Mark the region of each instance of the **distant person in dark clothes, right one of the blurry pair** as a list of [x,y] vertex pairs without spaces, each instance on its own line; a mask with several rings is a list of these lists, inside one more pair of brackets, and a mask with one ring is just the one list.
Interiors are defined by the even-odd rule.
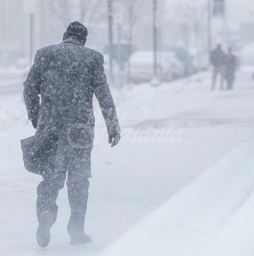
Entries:
[[235,79],[235,71],[237,66],[237,58],[233,55],[233,49],[228,48],[228,55],[225,62],[225,78],[227,81],[227,89],[233,89],[233,83]]

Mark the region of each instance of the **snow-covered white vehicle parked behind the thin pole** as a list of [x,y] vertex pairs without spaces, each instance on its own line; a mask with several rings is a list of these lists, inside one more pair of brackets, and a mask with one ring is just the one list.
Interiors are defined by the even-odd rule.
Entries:
[[[158,52],[157,74],[160,80],[170,81],[183,76],[184,68],[173,52]],[[147,82],[154,77],[154,54],[135,52],[130,58],[130,80]]]

